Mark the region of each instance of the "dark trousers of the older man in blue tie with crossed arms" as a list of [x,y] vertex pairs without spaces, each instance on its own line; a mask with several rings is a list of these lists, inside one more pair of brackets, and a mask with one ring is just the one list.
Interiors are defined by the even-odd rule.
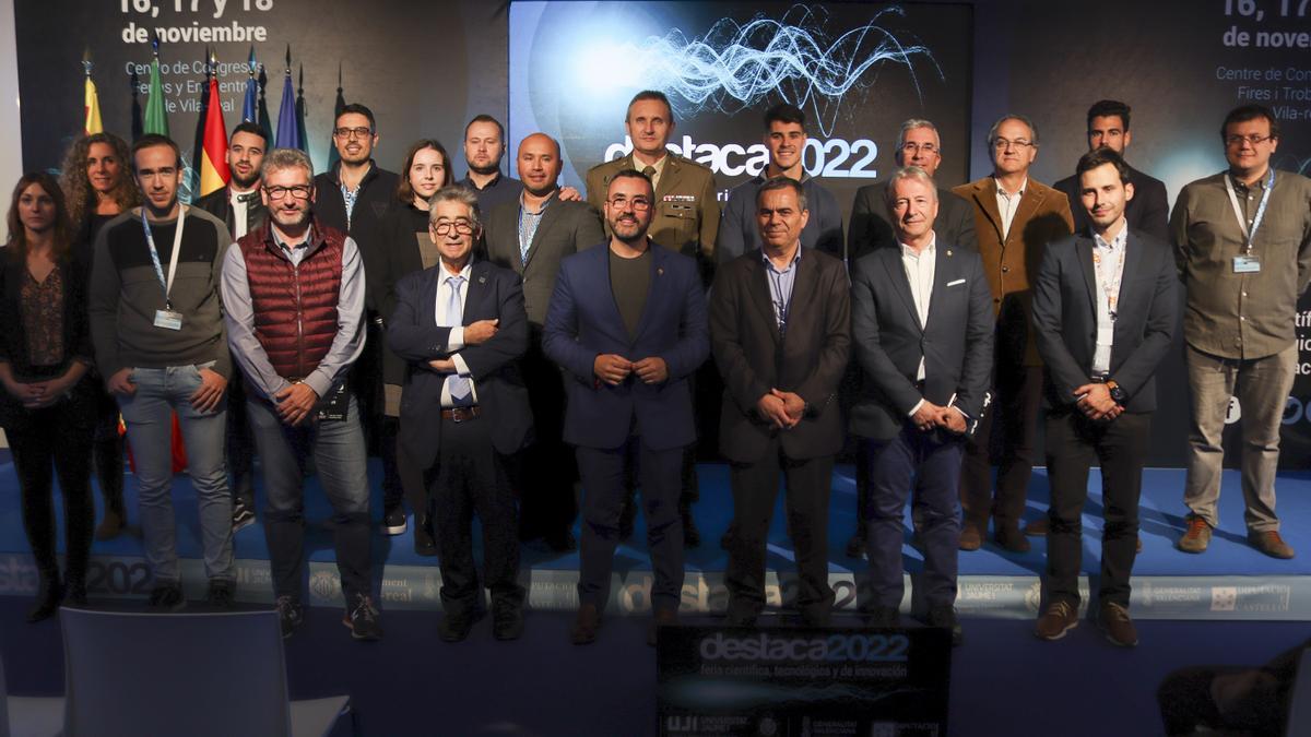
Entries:
[[[435,412],[435,408],[434,408]],[[442,420],[442,447],[425,480],[437,513],[442,607],[448,614],[482,606],[482,585],[493,606],[523,603],[519,585],[519,510],[510,487],[510,462],[492,446],[490,417]],[[473,515],[482,523],[482,582],[473,563]]]

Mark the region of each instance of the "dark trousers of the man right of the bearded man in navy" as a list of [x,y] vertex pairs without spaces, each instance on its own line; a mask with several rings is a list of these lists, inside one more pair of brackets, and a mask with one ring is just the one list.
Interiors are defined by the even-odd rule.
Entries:
[[777,437],[755,463],[733,463],[733,536],[724,584],[729,611],[754,615],[764,607],[764,559],[779,472],[787,487],[788,532],[797,556],[797,608],[813,623],[827,622],[834,593],[829,586],[829,492],[832,456],[788,458]]

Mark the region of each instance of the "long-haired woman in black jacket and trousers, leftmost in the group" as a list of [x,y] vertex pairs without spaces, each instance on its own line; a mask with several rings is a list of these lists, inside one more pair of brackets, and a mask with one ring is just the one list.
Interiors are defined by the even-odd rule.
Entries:
[[[72,257],[68,212],[54,177],[25,174],[9,206],[9,241],[0,249],[0,428],[13,452],[41,590],[28,614],[55,614],[66,593],[87,603],[94,508],[90,446],[96,387],[87,325],[87,275]],[[55,559],[51,468],[64,501],[67,570]],[[67,588],[66,588],[67,586]]]

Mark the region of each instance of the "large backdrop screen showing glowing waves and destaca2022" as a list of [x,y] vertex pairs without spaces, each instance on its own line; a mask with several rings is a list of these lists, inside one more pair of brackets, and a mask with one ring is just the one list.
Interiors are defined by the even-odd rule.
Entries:
[[[857,188],[895,167],[906,118],[941,134],[944,182],[965,180],[973,10],[968,5],[514,3],[510,147],[560,140],[564,181],[632,149],[632,96],[669,96],[670,148],[714,170],[721,199],[768,161],[762,115],[809,118],[806,170],[850,212]],[[844,218],[846,222],[846,218]]]

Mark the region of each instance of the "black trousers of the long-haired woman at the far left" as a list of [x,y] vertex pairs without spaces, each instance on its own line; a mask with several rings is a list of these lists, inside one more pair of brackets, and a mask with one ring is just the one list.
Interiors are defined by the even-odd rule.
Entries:
[[[68,407],[47,407],[29,412],[28,422],[7,428],[22,496],[22,526],[28,532],[37,570],[47,581],[59,580],[55,557],[54,476],[64,502],[67,535],[67,580],[87,580],[96,506],[90,498],[90,452],[94,428],[69,422]],[[89,418],[88,418],[89,420]]]

